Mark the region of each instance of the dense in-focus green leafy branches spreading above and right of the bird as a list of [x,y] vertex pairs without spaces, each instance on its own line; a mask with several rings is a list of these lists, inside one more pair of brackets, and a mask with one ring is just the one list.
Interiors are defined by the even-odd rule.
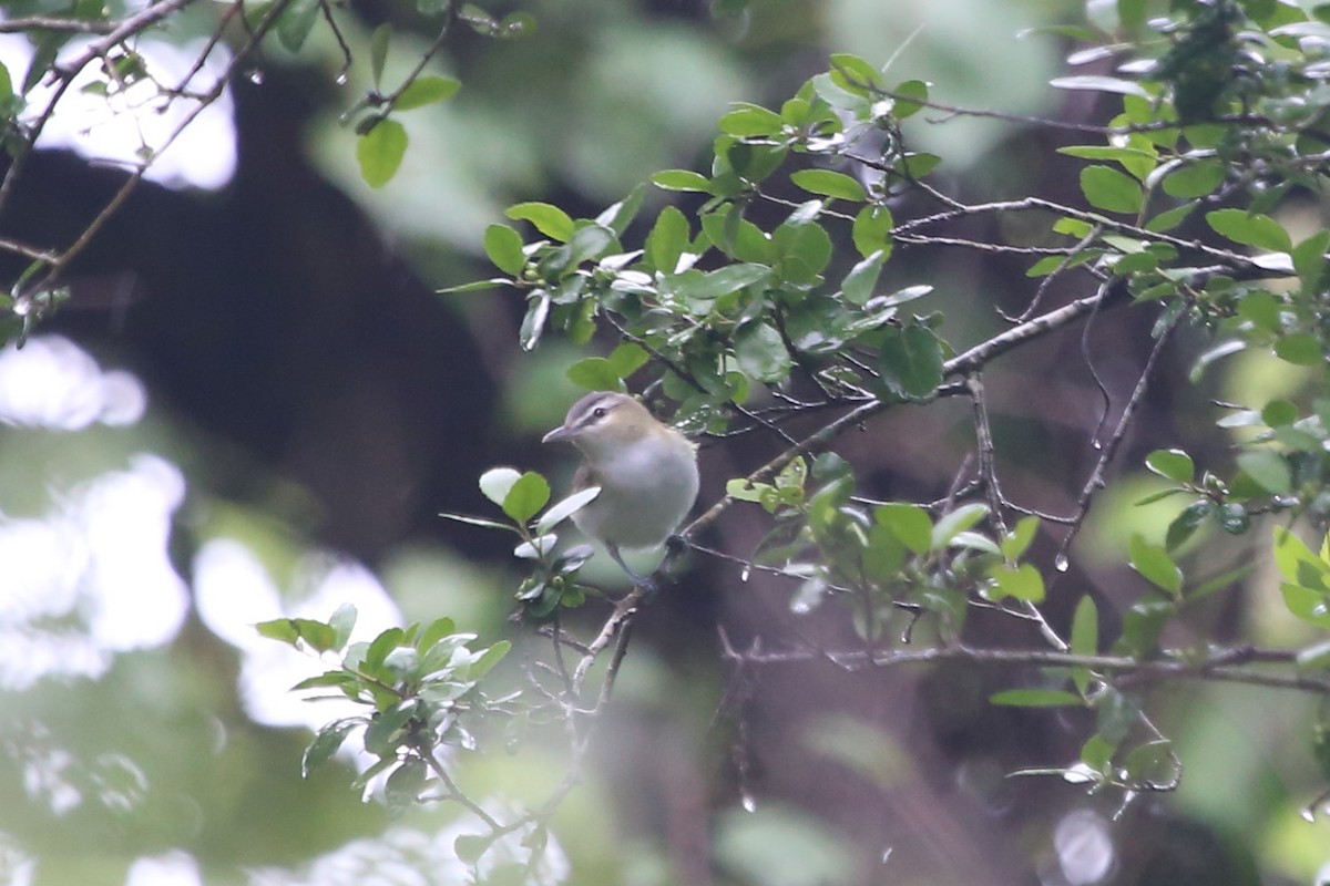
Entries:
[[[491,227],[485,251],[504,276],[459,287],[521,292],[524,349],[551,331],[588,344],[608,328],[621,349],[648,355],[645,363],[622,365],[614,355],[587,357],[569,371],[577,384],[625,389],[632,376],[673,402],[673,421],[693,433],[759,429],[785,441],[782,454],[732,480],[726,498],[684,537],[694,538],[734,502],[759,505],[771,529],[749,569],[793,579],[795,615],[807,616],[826,602],[842,604],[863,646],[829,652],[790,639],[782,652],[730,648],[735,663],[830,656],[850,669],[944,658],[1040,665],[1036,685],[998,692],[992,701],[1088,708],[1095,728],[1075,765],[1024,772],[1061,774],[1091,789],[1116,786],[1128,797],[1173,789],[1184,770],[1172,741],[1146,713],[1142,683],[1198,677],[1330,689],[1318,673],[1325,659],[1319,639],[1294,650],[1161,644],[1189,607],[1249,573],[1198,578],[1204,558],[1188,562],[1181,554],[1200,530],[1269,533],[1269,523],[1256,518],[1283,514],[1323,534],[1330,517],[1330,234],[1297,235],[1278,221],[1286,202],[1322,189],[1327,112],[1322,44],[1311,36],[1326,25],[1274,3],[1180,3],[1174,19],[1148,25],[1137,9],[1120,4],[1123,31],[1164,35],[1162,49],[1157,40],[1079,32],[1104,41],[1096,57],[1125,56],[1119,66],[1134,76],[1056,81],[1064,89],[1108,93],[1121,108],[1097,130],[1101,143],[1060,149],[1084,161],[1083,206],[1037,198],[963,203],[944,194],[931,183],[943,159],[911,150],[907,130],[932,104],[928,86],[888,81],[862,58],[842,54],[778,109],[739,104],[725,114],[705,173],[653,177],[661,190],[696,195],[690,202],[666,205],[645,223],[636,222],[648,203],[641,190],[592,218],[571,218],[544,203],[515,206],[509,218],[528,223],[535,236]],[[934,207],[920,209],[928,203]],[[783,217],[763,226],[773,209]],[[903,217],[902,209],[911,214]],[[944,232],[958,219],[1020,213],[1051,218],[1048,246]],[[943,232],[934,234],[938,228]],[[837,244],[851,244],[853,252],[838,252]],[[936,244],[1028,256],[1037,290],[1009,317],[1007,332],[962,351],[944,337],[938,311],[914,312],[930,286],[880,286],[900,252]],[[1051,283],[1063,278],[1088,286],[1089,295],[1039,315]],[[987,426],[986,365],[1012,347],[1121,304],[1153,306],[1154,348],[1103,442],[1077,511],[1039,514],[1005,499]],[[1101,640],[1091,594],[1080,596],[1063,634],[1043,610],[1049,575],[1068,570],[1072,539],[1104,485],[1156,357],[1180,324],[1202,328],[1214,340],[1198,376],[1236,352],[1261,349],[1311,368],[1315,381],[1301,402],[1230,408],[1218,426],[1254,432],[1230,469],[1197,476],[1193,457],[1182,450],[1149,454],[1144,466],[1169,486],[1142,503],[1181,497],[1186,505],[1164,543],[1132,538],[1127,558],[1144,584],[1116,640]],[[943,499],[872,501],[841,457],[823,452],[811,464],[806,458],[883,409],[951,396],[974,404],[980,466]],[[782,430],[793,417],[821,409],[839,413],[803,438]],[[1059,525],[1056,555],[1044,563],[1031,559],[1036,535],[1056,533]],[[1274,533],[1290,612],[1323,630],[1330,626],[1330,582],[1323,580],[1330,554],[1311,553],[1285,526]],[[1047,648],[960,646],[967,614],[976,608],[1032,623]],[[918,652],[886,646],[892,628],[908,643],[919,622],[934,624],[936,646]],[[1282,669],[1246,667],[1252,662]]]

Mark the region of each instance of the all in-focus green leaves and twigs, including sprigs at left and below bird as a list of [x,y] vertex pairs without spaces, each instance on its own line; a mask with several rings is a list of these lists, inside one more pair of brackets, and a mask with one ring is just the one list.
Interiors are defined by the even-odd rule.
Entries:
[[[12,158],[0,206],[59,104],[57,89],[45,106],[28,106],[39,82],[53,76],[68,88],[72,72],[94,62],[102,65],[98,82],[108,94],[152,81],[130,37],[184,5],[166,0],[109,19],[78,3],[56,17],[59,27],[32,28],[39,53],[21,85],[0,68],[3,137]],[[714,12],[739,15],[749,5],[716,3]],[[1099,12],[1107,5],[1096,4]],[[1303,230],[1291,211],[1318,206],[1325,189],[1330,16],[1278,0],[1176,0],[1153,19],[1146,7],[1120,0],[1112,21],[1059,31],[1087,44],[1072,64],[1112,66],[1108,74],[1053,81],[1093,93],[1109,109],[1104,125],[1059,133],[1075,133],[1080,142],[1059,149],[1077,165],[1075,199],[967,202],[948,193],[946,158],[918,150],[914,128],[934,112],[979,112],[939,102],[920,80],[834,54],[827,70],[778,108],[734,105],[718,121],[702,170],[660,171],[653,191],[642,185],[591,217],[539,201],[509,207],[512,223],[492,224],[483,235],[497,275],[452,290],[519,294],[519,348],[535,351],[561,336],[585,349],[568,371],[577,385],[640,389],[694,436],[753,434],[779,446],[765,464],[729,480],[722,497],[704,502],[702,515],[681,529],[682,550],[777,576],[797,623],[827,619],[850,639],[826,648],[791,631],[775,647],[742,650],[725,638],[724,655],[735,668],[803,662],[830,662],[846,672],[942,662],[1000,668],[1008,685],[991,695],[994,705],[1029,708],[1032,716],[1043,708],[1085,713],[1077,720],[1084,728],[1075,762],[1020,773],[1112,789],[1124,804],[1177,788],[1186,766],[1156,723],[1153,685],[1205,680],[1330,692],[1330,542],[1302,541],[1326,538],[1330,522],[1330,231]],[[235,9],[246,17],[246,36],[227,76],[243,70],[269,35],[299,52],[322,21],[342,43],[338,11],[323,0]],[[343,117],[358,133],[356,161],[370,187],[392,179],[408,150],[399,116],[460,88],[452,77],[426,73],[456,24],[487,37],[533,27],[523,12],[493,17],[452,0],[420,0],[416,12],[439,21],[438,37],[394,86],[380,85],[390,25],[375,29],[363,52],[342,43],[346,65],[352,52],[367,53],[372,70],[374,89]],[[85,29],[104,36],[51,66]],[[202,105],[218,89],[196,94],[181,84],[161,86],[161,94]],[[121,194],[164,149],[145,154]],[[0,243],[31,260],[0,304],[8,311],[0,333],[21,339],[49,313],[69,262],[114,206],[68,244]],[[1013,218],[1037,224],[1039,235],[1007,236],[1000,222]],[[919,264],[911,260],[968,252],[1020,262],[1032,288],[1020,311],[995,311],[1005,328],[975,341],[964,341],[974,335],[968,324],[934,306],[944,294],[918,279]],[[1059,292],[1075,295],[1045,307]],[[1130,396],[1112,412],[1105,406],[1105,426],[1109,414],[1116,422],[1096,433],[1092,469],[1075,506],[1055,514],[1009,499],[988,417],[990,365],[1128,307],[1152,317],[1149,355]],[[1180,328],[1210,343],[1196,361],[1197,383],[1234,355],[1261,353],[1303,373],[1305,384],[1264,402],[1222,405],[1217,428],[1242,433],[1230,460],[1169,448],[1133,464],[1124,440]],[[613,347],[597,349],[606,340]],[[931,410],[956,399],[972,416],[975,458],[958,466],[950,487],[883,498],[858,465],[833,452],[849,430],[887,410]],[[1132,531],[1119,553],[1138,576],[1138,595],[1119,626],[1107,618],[1108,600],[1075,584],[1072,566],[1075,541],[1111,469],[1124,468],[1165,484],[1141,505],[1168,501],[1178,510],[1162,538]],[[504,519],[443,517],[516,535],[513,555],[527,573],[515,594],[523,630],[549,640],[544,660],[525,673],[528,691],[491,695],[483,677],[508,644],[473,650],[476,636],[447,618],[354,644],[348,608],[327,622],[278,619],[258,630],[332,663],[298,689],[329,689],[363,708],[317,733],[305,753],[306,773],[354,737],[356,749],[375,760],[358,784],[383,777],[383,796],[398,812],[427,801],[463,805],[487,828],[455,845],[473,866],[499,837],[524,830],[529,869],[545,847],[549,817],[588,765],[595,727],[650,594],[634,588],[589,638],[575,638],[563,614],[591,608],[598,595],[581,578],[592,549],[559,551],[556,530],[597,490],[551,505],[545,477],[515,468],[495,468],[479,485]],[[761,543],[742,554],[708,550],[702,533],[738,509],[762,521]],[[1244,566],[1214,574],[1206,543],[1216,533],[1258,539],[1262,550],[1270,539],[1283,606],[1305,627],[1295,644],[1174,639],[1186,636],[1181,628],[1204,600],[1237,592],[1252,573]],[[661,574],[672,567],[668,558]],[[971,643],[978,615],[1013,626],[1023,643]],[[604,668],[593,672],[597,664]],[[1325,711],[1315,715],[1305,752],[1330,778]],[[567,725],[571,756],[544,804],[501,821],[458,786],[447,760],[493,744],[476,724],[520,719],[513,715]],[[1323,800],[1317,797],[1309,814]],[[516,881],[523,871],[508,875]]]

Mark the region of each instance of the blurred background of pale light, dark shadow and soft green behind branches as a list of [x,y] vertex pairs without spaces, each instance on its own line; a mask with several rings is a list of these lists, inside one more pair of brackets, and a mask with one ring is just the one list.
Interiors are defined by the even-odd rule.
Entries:
[[[387,80],[431,37],[411,3],[352,7],[366,32],[396,28]],[[81,259],[63,312],[0,355],[0,882],[463,882],[456,809],[390,817],[346,788],[351,760],[301,780],[307,728],[332,715],[286,696],[311,664],[249,626],[354,602],[366,630],[450,615],[483,642],[516,640],[520,658],[508,551],[435,514],[483,510],[475,478],[491,465],[560,466],[536,441],[576,395],[563,369],[581,355],[555,344],[520,355],[515,296],[434,295],[488,274],[484,226],[516,201],[589,214],[658,169],[692,166],[728,102],[778,102],[829,52],[894,58],[898,78],[931,81],[946,104],[1068,120],[1096,110],[1091,94],[1047,85],[1068,50],[1059,37],[1020,36],[1080,21],[1069,0],[753,0],[721,19],[702,0],[493,12],[515,9],[536,17],[535,33],[448,44],[438,73],[463,90],[400,116],[411,147],[380,190],[360,181],[354,134],[338,122],[368,85],[363,60],[338,85],[326,29],[298,57],[270,50],[261,82],[233,85],[229,183],[141,189]],[[190,15],[198,32],[182,24],[180,40],[206,33],[217,12]],[[1047,130],[930,120],[912,135],[944,158],[948,190],[1076,194],[1075,166],[1052,154]],[[118,175],[44,151],[7,230],[78,230]],[[1031,291],[1023,267],[979,255],[919,251],[892,268],[938,287],[952,341],[995,331],[992,304]],[[1148,317],[1130,312],[1096,328],[1091,349],[1115,395],[1149,344]],[[1124,464],[1157,446],[1222,454],[1197,393],[1258,402],[1297,384],[1244,357],[1193,389],[1205,344],[1173,349]],[[1049,510],[1093,457],[1097,400],[1079,347],[1079,332],[1057,336],[988,377],[1007,491]],[[882,495],[944,491],[972,448],[963,413],[892,409],[843,448]],[[704,449],[704,502],[762,457]],[[1140,590],[1123,565],[1125,527],[1150,534],[1153,521],[1157,535],[1172,514],[1132,506],[1149,482],[1099,502],[1065,579],[1119,610]],[[720,547],[745,550],[761,527],[732,514],[716,533]],[[1214,555],[1249,557],[1241,543]],[[1209,635],[1254,626],[1293,642],[1302,628],[1262,607],[1275,587],[1257,574],[1198,618]],[[551,882],[1330,878],[1327,825],[1297,816],[1321,788],[1301,737],[1305,699],[1164,689],[1188,774],[1176,794],[1115,818],[1119,798],[1005,777],[1075,760],[1080,724],[990,707],[990,675],[728,672],[716,627],[751,636],[783,623],[785,598],[769,590],[694,562],[644,619],[585,784],[555,820]],[[561,772],[549,739],[459,758],[466,786],[539,801]]]

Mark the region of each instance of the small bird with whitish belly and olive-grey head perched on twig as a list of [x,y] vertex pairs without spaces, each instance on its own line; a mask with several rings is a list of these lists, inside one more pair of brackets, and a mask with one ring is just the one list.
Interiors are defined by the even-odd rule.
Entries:
[[556,440],[583,454],[573,489],[600,486],[573,514],[577,529],[602,542],[633,583],[653,590],[650,579],[624,563],[620,549],[660,547],[688,515],[697,498],[696,446],[637,400],[612,391],[575,402],[541,442]]

